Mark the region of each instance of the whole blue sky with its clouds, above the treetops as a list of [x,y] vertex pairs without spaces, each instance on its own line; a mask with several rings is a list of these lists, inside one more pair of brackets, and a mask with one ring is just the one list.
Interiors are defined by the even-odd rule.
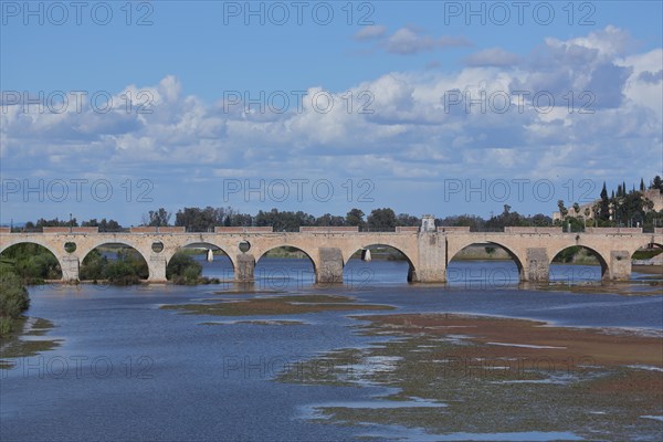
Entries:
[[663,169],[657,1],[0,4],[2,223],[549,213]]

